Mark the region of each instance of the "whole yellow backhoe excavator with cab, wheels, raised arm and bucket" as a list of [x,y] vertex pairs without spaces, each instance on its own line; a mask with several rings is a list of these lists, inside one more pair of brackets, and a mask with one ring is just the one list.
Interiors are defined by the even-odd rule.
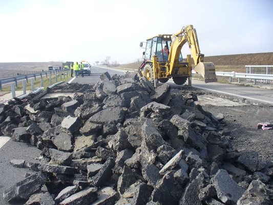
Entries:
[[[187,55],[185,61],[181,54],[185,43],[190,47],[195,72],[203,76],[205,83],[216,82],[215,66],[204,62],[204,54],[200,53],[196,30],[192,25],[183,27],[173,35],[160,34],[146,39],[144,61],[138,70],[140,76],[145,76],[155,87],[158,81],[166,83],[170,78],[177,85],[183,85],[188,78],[188,85],[191,86],[192,57]],[[143,42],[140,47],[143,48]]]

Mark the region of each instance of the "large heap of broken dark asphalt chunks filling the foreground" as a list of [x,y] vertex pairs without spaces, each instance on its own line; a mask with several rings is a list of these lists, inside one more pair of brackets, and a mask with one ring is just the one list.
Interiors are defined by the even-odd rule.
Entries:
[[65,85],[73,98],[0,106],[2,134],[41,150],[35,171],[4,192],[25,204],[272,204],[273,164],[230,146],[223,115],[197,95],[137,73]]

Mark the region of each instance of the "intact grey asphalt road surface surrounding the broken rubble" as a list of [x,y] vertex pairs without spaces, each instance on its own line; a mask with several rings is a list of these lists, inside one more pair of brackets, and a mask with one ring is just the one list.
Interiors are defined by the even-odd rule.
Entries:
[[[98,81],[100,81],[99,76],[103,72],[109,72],[110,75],[123,75],[126,70],[93,66],[90,76],[85,75],[84,77],[74,77],[69,80],[69,83],[96,84]],[[171,87],[177,87],[177,85],[172,83],[172,80],[169,81],[169,84]],[[192,80],[192,85],[193,87],[212,92],[219,92],[226,95],[273,104],[273,90],[269,89],[242,87],[219,83],[204,84],[204,82],[200,80]],[[9,137],[0,136],[0,205],[8,204],[3,200],[4,190],[14,185],[14,183],[18,182],[19,180],[22,180],[25,177],[25,174],[30,172],[26,168],[14,168],[10,165],[9,161],[11,159],[25,159],[27,162],[35,162],[36,158],[39,157],[39,153],[40,151],[37,148],[32,147],[29,144],[14,142],[10,140]]]

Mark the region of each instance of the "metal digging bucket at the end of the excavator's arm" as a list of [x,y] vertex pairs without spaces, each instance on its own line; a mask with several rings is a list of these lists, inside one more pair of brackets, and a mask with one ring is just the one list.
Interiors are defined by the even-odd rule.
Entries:
[[214,64],[211,62],[200,62],[195,67],[195,72],[202,75],[205,79],[205,83],[212,83],[217,82],[216,74],[215,74],[215,67]]

